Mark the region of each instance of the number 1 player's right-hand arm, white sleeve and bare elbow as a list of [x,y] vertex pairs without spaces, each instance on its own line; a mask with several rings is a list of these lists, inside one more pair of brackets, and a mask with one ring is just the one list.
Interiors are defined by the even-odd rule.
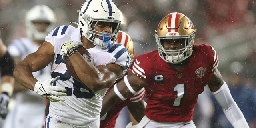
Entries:
[[208,86],[232,126],[234,128],[249,128],[243,113],[232,98],[228,85],[222,79],[218,69],[215,70]]

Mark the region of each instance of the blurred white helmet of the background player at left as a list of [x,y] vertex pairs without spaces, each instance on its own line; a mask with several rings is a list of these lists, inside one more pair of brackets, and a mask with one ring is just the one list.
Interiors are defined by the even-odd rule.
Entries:
[[[54,12],[46,5],[36,5],[31,8],[25,17],[26,34],[30,39],[44,41],[45,36],[55,28]],[[48,25],[46,32],[38,32],[34,22],[45,22]]]

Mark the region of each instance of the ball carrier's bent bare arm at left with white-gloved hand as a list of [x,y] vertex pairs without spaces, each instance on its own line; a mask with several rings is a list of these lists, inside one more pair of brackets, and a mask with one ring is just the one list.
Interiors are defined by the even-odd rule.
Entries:
[[40,82],[33,77],[32,72],[36,72],[45,68],[54,58],[54,48],[49,42],[42,44],[38,50],[32,54],[29,54],[17,64],[14,68],[14,77],[24,87],[34,90],[44,98],[50,101],[64,101],[63,98],[58,96],[65,96],[66,89],[56,86],[51,86],[52,82],[58,80],[58,78],[52,78]]

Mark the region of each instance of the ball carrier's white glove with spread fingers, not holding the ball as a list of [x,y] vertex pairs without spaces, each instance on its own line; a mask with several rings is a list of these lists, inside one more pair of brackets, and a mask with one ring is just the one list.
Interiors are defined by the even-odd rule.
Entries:
[[34,85],[34,91],[52,102],[65,101],[64,98],[60,98],[58,96],[67,96],[65,93],[67,90],[62,87],[51,85],[51,83],[56,82],[58,79],[60,79],[60,76],[43,82],[38,81]]

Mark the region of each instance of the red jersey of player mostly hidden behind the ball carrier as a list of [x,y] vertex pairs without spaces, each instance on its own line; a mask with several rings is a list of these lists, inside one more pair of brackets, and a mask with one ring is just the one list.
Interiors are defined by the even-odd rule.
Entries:
[[[128,69],[126,74],[130,74],[132,73],[131,69]],[[123,78],[120,78],[119,80],[116,81],[116,83],[118,83],[120,80],[122,80]],[[106,94],[113,88],[114,86],[111,86],[110,88],[108,88],[108,91],[106,92]],[[138,91],[136,94],[134,94],[133,96],[130,96],[129,98],[127,98],[126,100],[124,100],[123,102],[120,102],[118,104],[116,104],[115,106],[113,106],[108,112],[107,112],[107,116],[102,120],[100,120],[100,128],[114,128],[116,125],[116,118],[118,117],[120,111],[122,110],[122,108],[124,106],[126,106],[129,102],[138,102],[138,101],[142,101],[144,100],[144,96],[145,96],[145,89],[142,88],[142,90]]]

